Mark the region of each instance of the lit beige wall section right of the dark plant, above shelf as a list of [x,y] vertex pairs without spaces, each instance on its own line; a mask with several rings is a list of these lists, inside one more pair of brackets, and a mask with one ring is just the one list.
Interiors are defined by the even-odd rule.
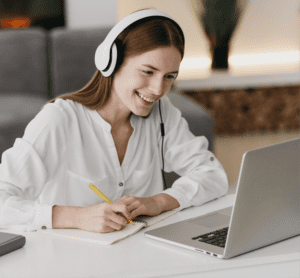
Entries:
[[300,1],[249,0],[231,40],[231,56],[234,75],[300,71]]

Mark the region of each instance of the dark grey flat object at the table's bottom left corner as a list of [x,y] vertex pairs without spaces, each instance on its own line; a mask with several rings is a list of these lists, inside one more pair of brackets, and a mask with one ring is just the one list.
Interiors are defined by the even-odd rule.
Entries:
[[22,235],[0,232],[0,256],[23,247],[25,242]]

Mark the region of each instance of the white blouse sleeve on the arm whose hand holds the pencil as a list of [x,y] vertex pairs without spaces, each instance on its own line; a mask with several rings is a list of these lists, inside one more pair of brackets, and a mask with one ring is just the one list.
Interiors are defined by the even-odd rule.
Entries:
[[[65,119],[47,104],[28,124],[23,138],[2,155],[0,164],[0,228],[33,231],[52,228],[52,206],[38,201],[45,183],[64,153]],[[58,151],[59,150],[59,151]]]

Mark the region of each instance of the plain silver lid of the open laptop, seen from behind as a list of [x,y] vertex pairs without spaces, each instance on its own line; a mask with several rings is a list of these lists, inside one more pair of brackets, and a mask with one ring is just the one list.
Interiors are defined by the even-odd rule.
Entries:
[[300,234],[300,139],[244,154],[225,258]]

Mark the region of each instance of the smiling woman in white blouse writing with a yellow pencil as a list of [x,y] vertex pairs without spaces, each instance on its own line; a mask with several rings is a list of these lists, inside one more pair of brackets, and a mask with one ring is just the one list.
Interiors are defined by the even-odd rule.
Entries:
[[[191,134],[165,96],[183,58],[183,33],[167,15],[134,14],[139,13],[143,19],[114,41],[113,70],[105,72],[96,52],[102,68],[92,80],[46,104],[3,154],[0,228],[112,232],[138,215],[181,210],[226,194],[226,174],[207,150],[208,141]],[[167,190],[163,167],[182,176]],[[113,203],[100,200],[90,183]]]

